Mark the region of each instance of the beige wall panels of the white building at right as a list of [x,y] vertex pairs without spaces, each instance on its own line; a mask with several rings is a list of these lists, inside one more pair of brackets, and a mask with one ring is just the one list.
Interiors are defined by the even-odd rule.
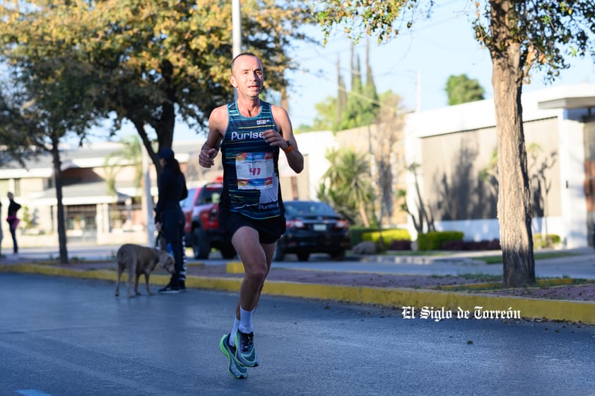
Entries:
[[[524,133],[532,193],[536,200],[540,196],[545,200],[545,203],[540,200],[532,205],[534,217],[542,217],[544,210],[548,216],[560,216],[558,119],[528,121],[524,124]],[[497,184],[479,177],[483,169],[490,167],[497,150],[495,128],[428,136],[421,140],[421,145],[423,196],[435,220],[496,217]],[[540,169],[549,184],[547,198],[545,188],[540,192],[536,185]]]

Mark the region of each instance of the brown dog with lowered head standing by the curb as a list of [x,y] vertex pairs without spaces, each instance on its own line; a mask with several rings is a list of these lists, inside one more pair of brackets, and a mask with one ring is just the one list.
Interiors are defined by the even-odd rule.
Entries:
[[174,258],[167,253],[167,251],[158,250],[156,248],[147,248],[145,246],[135,244],[124,244],[120,246],[116,253],[118,260],[118,280],[116,282],[115,295],[120,294],[120,277],[125,269],[128,269],[128,282],[126,282],[126,292],[129,297],[134,297],[130,293],[130,286],[132,283],[132,277],[136,276],[134,282],[134,293],[140,296],[139,293],[139,278],[141,274],[145,275],[145,282],[147,285],[148,294],[153,294],[149,289],[149,276],[151,272],[155,270],[157,265],[164,268],[167,272],[174,272]]

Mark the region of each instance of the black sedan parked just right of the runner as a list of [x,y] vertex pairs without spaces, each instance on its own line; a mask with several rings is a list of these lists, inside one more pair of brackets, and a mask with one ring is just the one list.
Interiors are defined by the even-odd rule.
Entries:
[[306,261],[311,253],[329,253],[334,260],[343,260],[350,248],[349,222],[324,202],[289,200],[285,206],[287,229],[277,241],[274,260],[295,253]]

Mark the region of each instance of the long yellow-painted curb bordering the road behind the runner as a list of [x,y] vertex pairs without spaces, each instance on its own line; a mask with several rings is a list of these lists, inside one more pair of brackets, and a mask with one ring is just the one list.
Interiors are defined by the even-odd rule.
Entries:
[[[117,273],[113,270],[73,270],[33,264],[0,265],[0,271],[111,280],[114,282],[117,276]],[[152,275],[151,283],[167,284],[169,279],[169,275]],[[187,287],[192,288],[238,292],[242,279],[192,276],[187,277],[186,284]],[[267,281],[263,292],[276,296],[377,304],[397,308],[411,307],[415,308],[417,312],[420,312],[424,307],[430,308],[432,311],[440,311],[444,308],[444,310],[451,311],[454,316],[460,310],[469,311],[471,317],[475,316],[477,311],[482,316],[487,315],[492,318],[494,316],[504,316],[506,318],[518,314],[522,318],[547,318],[549,320],[568,320],[595,324],[595,302],[592,301],[526,299],[516,296],[494,296],[481,293],[469,294],[428,289],[355,287],[280,281]]]

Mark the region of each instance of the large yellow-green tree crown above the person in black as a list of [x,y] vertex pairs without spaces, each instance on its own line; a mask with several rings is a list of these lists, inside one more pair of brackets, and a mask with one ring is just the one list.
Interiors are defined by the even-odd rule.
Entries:
[[[295,68],[288,50],[305,39],[307,11],[298,1],[242,3],[243,49],[264,59],[271,90],[282,92],[285,71]],[[100,73],[88,90],[99,90],[100,109],[116,115],[112,133],[131,121],[158,169],[151,130],[156,150],[170,147],[176,119],[200,131],[214,107],[232,100],[230,1],[31,0],[4,2],[0,17],[6,56],[50,60],[66,49]]]

